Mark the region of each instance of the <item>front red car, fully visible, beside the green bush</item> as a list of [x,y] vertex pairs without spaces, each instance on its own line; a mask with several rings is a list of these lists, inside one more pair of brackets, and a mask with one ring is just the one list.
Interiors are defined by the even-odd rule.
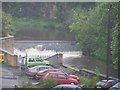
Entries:
[[75,75],[68,75],[63,72],[49,72],[45,77],[52,77],[58,84],[79,84],[79,78]]

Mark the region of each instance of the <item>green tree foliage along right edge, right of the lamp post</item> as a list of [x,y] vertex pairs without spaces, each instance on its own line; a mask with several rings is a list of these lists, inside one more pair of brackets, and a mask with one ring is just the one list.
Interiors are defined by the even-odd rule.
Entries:
[[113,32],[112,32],[112,54],[113,54],[113,58],[112,58],[112,61],[113,61],[113,64],[115,65],[115,67],[119,67],[120,68],[120,60],[119,60],[119,57],[120,57],[120,47],[119,47],[119,44],[120,44],[120,40],[119,40],[119,29],[120,29],[120,17],[119,17],[119,14],[120,12],[118,12],[118,10],[120,9],[120,2],[119,3],[116,3],[114,5],[115,10],[117,11],[117,14],[116,14],[116,24],[115,24],[115,27],[113,28]]

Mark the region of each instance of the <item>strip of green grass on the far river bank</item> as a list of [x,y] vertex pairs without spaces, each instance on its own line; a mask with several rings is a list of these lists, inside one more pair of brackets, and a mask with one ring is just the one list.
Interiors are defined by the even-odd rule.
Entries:
[[58,22],[57,20],[52,19],[27,19],[27,18],[14,18],[13,23],[17,31],[19,30],[34,30],[39,31],[61,31],[65,30],[65,26]]

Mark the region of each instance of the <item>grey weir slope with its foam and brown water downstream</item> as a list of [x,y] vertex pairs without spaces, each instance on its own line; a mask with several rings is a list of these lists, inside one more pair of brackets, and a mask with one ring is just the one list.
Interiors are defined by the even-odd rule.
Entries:
[[[87,68],[89,70],[95,70],[96,67],[99,68],[101,74],[106,74],[106,62],[100,60],[95,60],[92,58],[81,57],[81,51],[79,46],[75,41],[15,41],[14,47],[20,53],[33,52],[34,50],[40,53],[40,55],[49,56],[56,53],[62,53],[64,64],[78,69]],[[57,52],[56,52],[57,51]],[[112,77],[118,77],[118,70],[113,68],[113,65],[109,65],[109,75]]]

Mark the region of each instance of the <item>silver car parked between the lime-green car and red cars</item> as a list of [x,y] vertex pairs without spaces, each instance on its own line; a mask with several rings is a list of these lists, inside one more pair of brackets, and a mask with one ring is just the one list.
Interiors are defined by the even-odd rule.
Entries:
[[55,67],[46,66],[46,65],[37,65],[37,66],[34,66],[34,67],[27,68],[25,73],[28,76],[35,76],[37,72],[45,70],[45,69],[51,69],[51,68],[55,68]]

